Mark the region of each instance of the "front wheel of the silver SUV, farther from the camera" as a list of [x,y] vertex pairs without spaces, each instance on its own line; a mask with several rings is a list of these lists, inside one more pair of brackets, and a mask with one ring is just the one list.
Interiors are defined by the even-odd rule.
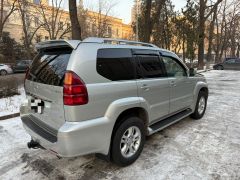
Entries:
[[191,114],[191,117],[193,119],[201,119],[204,116],[207,108],[207,99],[208,99],[207,93],[200,91],[198,94],[195,111],[193,114]]

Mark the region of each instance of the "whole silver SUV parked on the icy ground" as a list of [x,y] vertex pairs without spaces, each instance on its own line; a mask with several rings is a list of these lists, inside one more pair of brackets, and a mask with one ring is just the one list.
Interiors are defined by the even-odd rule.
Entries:
[[172,52],[116,39],[48,41],[26,74],[29,148],[133,163],[149,136],[205,113],[208,86]]

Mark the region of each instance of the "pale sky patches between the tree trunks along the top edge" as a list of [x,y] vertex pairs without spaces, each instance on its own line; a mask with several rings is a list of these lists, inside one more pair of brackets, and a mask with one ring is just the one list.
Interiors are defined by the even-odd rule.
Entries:
[[[83,0],[84,7],[90,10],[94,10],[94,7],[98,4],[99,0]],[[104,0],[103,0],[104,1]],[[112,0],[116,5],[112,8],[110,15],[123,19],[123,22],[128,24],[131,21],[131,9],[134,4],[134,0]],[[175,5],[175,10],[181,10],[187,0],[172,0]],[[67,1],[65,0],[65,7],[67,6]]]

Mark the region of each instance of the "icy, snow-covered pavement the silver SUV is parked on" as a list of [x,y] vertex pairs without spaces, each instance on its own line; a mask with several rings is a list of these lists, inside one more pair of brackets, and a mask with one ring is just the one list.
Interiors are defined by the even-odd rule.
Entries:
[[120,168],[94,155],[58,159],[28,150],[20,118],[0,121],[0,179],[240,179],[240,72],[204,73],[203,119],[190,118],[147,138],[140,158]]

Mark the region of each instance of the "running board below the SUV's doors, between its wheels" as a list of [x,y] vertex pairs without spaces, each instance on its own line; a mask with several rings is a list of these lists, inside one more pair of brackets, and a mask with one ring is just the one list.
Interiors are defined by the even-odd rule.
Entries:
[[180,121],[181,119],[189,116],[192,113],[191,109],[186,109],[180,113],[177,113],[173,116],[170,116],[166,119],[160,120],[158,122],[156,122],[155,124],[151,125],[150,127],[148,127],[148,135],[151,135],[157,131],[160,131],[178,121]]

